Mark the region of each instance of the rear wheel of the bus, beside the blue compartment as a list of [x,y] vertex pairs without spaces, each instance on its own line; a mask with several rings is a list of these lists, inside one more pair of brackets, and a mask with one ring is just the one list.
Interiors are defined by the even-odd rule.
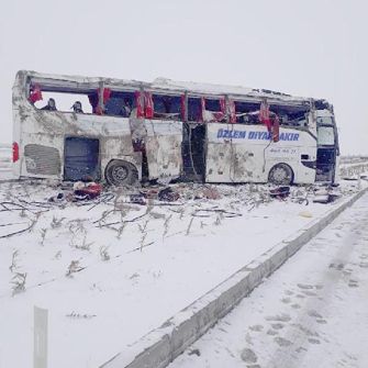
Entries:
[[138,171],[131,163],[113,159],[108,164],[104,177],[111,186],[134,186],[138,181]]

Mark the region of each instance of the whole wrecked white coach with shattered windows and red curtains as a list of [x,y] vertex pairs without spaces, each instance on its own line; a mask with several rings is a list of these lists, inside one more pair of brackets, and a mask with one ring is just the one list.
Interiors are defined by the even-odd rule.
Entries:
[[13,138],[18,178],[114,186],[337,180],[328,102],[243,87],[21,70]]

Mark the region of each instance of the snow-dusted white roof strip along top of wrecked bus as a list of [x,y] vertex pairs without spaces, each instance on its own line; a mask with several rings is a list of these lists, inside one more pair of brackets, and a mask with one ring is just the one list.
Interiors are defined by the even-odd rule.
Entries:
[[192,82],[192,81],[176,81],[168,78],[156,78],[153,82],[145,82],[140,80],[130,80],[130,79],[118,79],[118,78],[102,78],[102,77],[82,77],[82,76],[66,76],[66,75],[54,75],[54,74],[41,74],[37,71],[31,70],[21,70],[21,74],[26,74],[27,76],[36,79],[37,81],[66,81],[78,85],[94,85],[103,81],[108,86],[123,87],[145,87],[153,90],[167,90],[167,91],[177,91],[183,92],[188,91],[193,94],[231,94],[235,97],[248,97],[253,99],[268,98],[281,102],[297,102],[297,103],[309,103],[310,98],[295,97],[291,94],[286,94],[281,92],[276,92],[266,89],[255,89],[247,88],[242,86],[226,86],[226,85],[215,85],[215,83],[202,83],[202,82]]

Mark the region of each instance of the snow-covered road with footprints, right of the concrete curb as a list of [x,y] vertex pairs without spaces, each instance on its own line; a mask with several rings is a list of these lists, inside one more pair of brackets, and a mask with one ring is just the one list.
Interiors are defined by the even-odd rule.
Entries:
[[368,367],[368,194],[170,368]]

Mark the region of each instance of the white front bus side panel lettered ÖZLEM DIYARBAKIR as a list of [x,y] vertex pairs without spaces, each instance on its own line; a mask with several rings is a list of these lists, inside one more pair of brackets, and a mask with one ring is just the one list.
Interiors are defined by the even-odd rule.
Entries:
[[312,183],[315,140],[294,129],[280,129],[280,141],[270,141],[265,125],[211,123],[208,127],[207,182],[267,182],[275,165],[288,164],[295,183]]

